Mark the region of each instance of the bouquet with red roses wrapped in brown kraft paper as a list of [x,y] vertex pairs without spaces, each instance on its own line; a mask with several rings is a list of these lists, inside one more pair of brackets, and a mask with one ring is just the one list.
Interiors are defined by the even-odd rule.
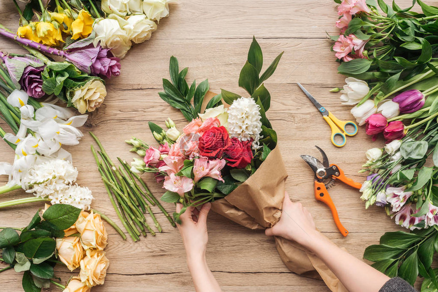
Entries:
[[[276,224],[287,172],[277,134],[266,117],[270,94],[263,82],[276,70],[282,54],[262,73],[262,50],[253,39],[239,76],[239,86],[249,97],[226,90],[212,94],[207,80],[189,86],[188,69],[179,71],[171,57],[171,80],[163,79],[164,92],[159,96],[179,109],[188,124],[180,132],[170,119],[166,131],[150,122],[158,147],[138,138],[126,141],[132,152],[142,156],[131,163],[132,171],[154,173],[166,189],[161,199],[181,202],[181,212],[212,202],[216,213],[245,227],[263,230]],[[177,222],[180,214],[174,213]],[[276,245],[291,271],[323,279],[333,291],[346,291],[330,269],[302,246],[283,238],[276,238]]]

